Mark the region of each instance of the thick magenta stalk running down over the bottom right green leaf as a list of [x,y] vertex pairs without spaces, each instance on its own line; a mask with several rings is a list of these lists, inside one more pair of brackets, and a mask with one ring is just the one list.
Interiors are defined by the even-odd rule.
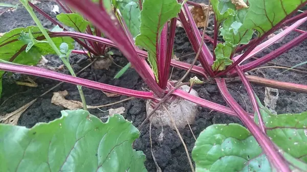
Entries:
[[221,78],[215,79],[218,89],[220,89],[227,104],[237,113],[239,118],[243,121],[247,129],[252,133],[270,162],[274,165],[277,171],[291,172],[288,162],[282,157],[276,149],[274,143],[262,132],[255,122],[247,115],[242,107],[233,99],[227,90],[225,80]]

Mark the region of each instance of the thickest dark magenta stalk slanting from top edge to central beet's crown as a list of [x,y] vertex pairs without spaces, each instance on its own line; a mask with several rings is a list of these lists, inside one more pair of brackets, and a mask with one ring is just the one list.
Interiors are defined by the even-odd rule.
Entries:
[[94,26],[103,31],[105,36],[110,38],[118,46],[123,55],[131,62],[148,87],[158,96],[162,97],[164,95],[164,90],[156,83],[150,71],[145,69],[146,67],[144,68],[144,66],[150,67],[138,56],[135,46],[128,40],[118,20],[112,20],[104,8],[99,8],[90,0],[64,0],[64,2],[79,11],[89,19]]

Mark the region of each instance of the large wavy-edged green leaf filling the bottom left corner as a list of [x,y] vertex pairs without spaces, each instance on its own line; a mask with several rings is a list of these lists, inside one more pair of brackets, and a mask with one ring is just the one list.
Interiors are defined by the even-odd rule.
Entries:
[[107,122],[84,110],[31,129],[0,125],[0,171],[146,172],[131,144],[140,135],[121,115]]

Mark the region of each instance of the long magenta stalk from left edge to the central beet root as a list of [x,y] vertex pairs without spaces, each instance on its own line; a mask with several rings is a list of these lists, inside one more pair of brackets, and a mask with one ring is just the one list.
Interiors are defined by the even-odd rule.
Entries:
[[88,88],[94,88],[106,92],[112,92],[121,95],[133,96],[141,99],[152,99],[158,101],[152,92],[148,91],[137,91],[131,90],[127,88],[121,88],[117,86],[107,85],[103,83],[98,83],[95,81],[90,81],[82,78],[77,78],[69,75],[65,75],[62,73],[58,73],[55,71],[34,67],[34,66],[26,66],[26,65],[14,65],[14,64],[6,64],[0,63],[0,69],[10,72],[24,73],[27,75],[49,78],[57,81],[67,82],[75,85],[81,85]]

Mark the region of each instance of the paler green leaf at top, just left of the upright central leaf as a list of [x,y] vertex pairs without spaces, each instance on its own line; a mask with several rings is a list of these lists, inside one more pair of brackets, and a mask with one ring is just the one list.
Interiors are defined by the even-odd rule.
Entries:
[[140,34],[141,10],[137,0],[114,1],[113,4],[122,14],[127,28],[135,38]]

